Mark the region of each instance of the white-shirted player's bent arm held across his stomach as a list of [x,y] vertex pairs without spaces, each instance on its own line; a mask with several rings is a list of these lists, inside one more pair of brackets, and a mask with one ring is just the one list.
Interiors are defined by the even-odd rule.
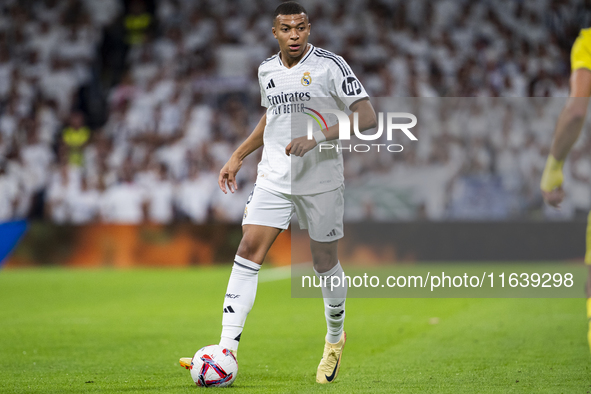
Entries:
[[[351,125],[350,133],[353,134],[353,116],[357,113],[358,122],[359,122],[359,131],[364,132],[365,130],[373,129],[377,126],[378,121],[376,117],[376,111],[371,105],[368,97],[364,97],[360,100],[355,101],[349,107],[351,110],[351,115],[349,115],[349,124]],[[324,134],[325,139],[321,139],[320,142],[323,141],[330,141],[336,140],[339,138],[339,124],[336,123],[330,126],[328,129],[324,129],[321,131]],[[285,148],[286,155],[294,155],[294,156],[304,156],[307,152],[314,149],[316,145],[318,145],[316,139],[309,140],[308,137],[299,137],[295,138],[293,141],[287,145]]]

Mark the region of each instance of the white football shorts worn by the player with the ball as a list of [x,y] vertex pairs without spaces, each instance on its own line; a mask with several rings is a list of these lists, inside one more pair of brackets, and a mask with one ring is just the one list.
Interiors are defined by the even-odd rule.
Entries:
[[255,184],[246,201],[242,225],[258,224],[285,230],[295,212],[300,229],[307,229],[314,241],[336,241],[344,236],[344,191],[345,186],[341,185],[328,192],[299,196]]

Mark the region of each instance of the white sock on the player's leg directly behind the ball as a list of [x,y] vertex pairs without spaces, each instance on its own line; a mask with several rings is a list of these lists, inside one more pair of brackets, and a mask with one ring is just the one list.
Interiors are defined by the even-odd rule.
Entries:
[[260,269],[261,266],[255,262],[238,255],[234,258],[234,266],[224,298],[220,346],[238,350],[246,316],[254,305]]

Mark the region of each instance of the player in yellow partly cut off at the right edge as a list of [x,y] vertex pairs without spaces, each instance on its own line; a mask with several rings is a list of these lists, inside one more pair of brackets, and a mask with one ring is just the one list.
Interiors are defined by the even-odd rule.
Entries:
[[[564,198],[562,166],[581,134],[589,96],[591,96],[591,28],[582,29],[572,47],[571,69],[570,97],[556,123],[554,140],[540,183],[544,200],[553,207],[559,207]],[[591,347],[591,212],[587,219],[585,263],[589,265],[585,291],[587,293],[587,319],[589,319],[587,338]]]

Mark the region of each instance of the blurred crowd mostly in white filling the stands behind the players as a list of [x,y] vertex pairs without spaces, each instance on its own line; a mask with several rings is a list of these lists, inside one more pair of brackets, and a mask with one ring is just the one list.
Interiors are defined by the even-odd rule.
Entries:
[[[538,192],[570,46],[591,26],[583,0],[301,3],[310,42],[342,55],[378,110],[395,104],[419,118],[419,142],[402,153],[345,153],[347,219],[571,218],[589,208],[587,138],[565,168],[560,213]],[[217,174],[263,114],[257,67],[278,51],[277,4],[4,0],[0,221],[240,221],[260,152],[234,195]]]

